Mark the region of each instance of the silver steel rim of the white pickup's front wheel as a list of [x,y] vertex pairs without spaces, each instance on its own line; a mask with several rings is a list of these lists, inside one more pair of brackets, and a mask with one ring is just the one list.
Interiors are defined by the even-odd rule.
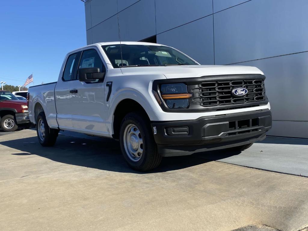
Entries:
[[134,124],[128,124],[124,130],[123,142],[126,155],[134,162],[140,160],[144,144],[139,128]]

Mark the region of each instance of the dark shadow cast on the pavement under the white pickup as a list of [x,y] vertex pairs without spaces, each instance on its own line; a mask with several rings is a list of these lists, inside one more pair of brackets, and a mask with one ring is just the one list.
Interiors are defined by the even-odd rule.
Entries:
[[[198,155],[165,157],[160,166],[150,172],[137,172],[126,164],[122,157],[119,142],[112,139],[93,137],[90,139],[59,135],[55,146],[42,147],[36,136],[0,142],[1,145],[14,148],[17,156],[37,155],[64,164],[87,168],[96,168],[113,172],[148,174],[167,172],[204,164],[222,157],[237,155],[229,152],[204,152]],[[222,154],[223,153],[223,154]]]

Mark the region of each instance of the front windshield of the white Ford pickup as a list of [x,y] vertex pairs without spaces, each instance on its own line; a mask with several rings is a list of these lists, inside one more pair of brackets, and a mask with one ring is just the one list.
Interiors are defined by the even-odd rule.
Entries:
[[[135,66],[199,65],[166,46],[115,44],[102,46],[114,68]],[[122,50],[122,57],[121,57]]]

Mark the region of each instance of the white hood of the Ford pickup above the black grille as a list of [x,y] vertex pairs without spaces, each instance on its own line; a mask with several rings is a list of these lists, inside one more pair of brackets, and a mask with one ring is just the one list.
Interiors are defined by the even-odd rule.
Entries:
[[183,65],[159,67],[125,67],[121,68],[124,75],[163,74],[167,79],[196,78],[210,75],[242,75],[260,74],[257,67],[249,66],[219,66],[219,65]]

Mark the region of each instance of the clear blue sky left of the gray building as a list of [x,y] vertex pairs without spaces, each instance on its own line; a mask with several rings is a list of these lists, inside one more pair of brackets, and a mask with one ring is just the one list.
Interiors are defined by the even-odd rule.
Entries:
[[[65,55],[86,44],[80,0],[14,0],[0,4],[0,81],[57,81]],[[32,86],[30,83],[27,87]]]

